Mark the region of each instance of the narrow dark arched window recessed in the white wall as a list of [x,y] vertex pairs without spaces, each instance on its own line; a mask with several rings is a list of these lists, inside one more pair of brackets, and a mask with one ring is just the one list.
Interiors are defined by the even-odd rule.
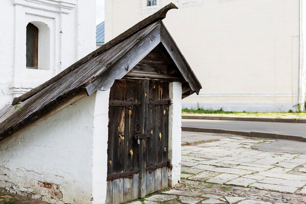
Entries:
[[26,67],[38,68],[38,28],[32,23],[26,26]]

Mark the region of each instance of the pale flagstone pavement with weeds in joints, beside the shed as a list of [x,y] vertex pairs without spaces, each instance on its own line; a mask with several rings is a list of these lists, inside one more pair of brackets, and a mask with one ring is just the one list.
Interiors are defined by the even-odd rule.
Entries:
[[181,187],[133,204],[306,204],[306,155],[261,152],[269,139],[183,133]]

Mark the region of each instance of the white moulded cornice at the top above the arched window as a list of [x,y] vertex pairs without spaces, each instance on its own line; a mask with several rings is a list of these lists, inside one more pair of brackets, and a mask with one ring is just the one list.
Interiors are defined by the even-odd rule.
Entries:
[[75,8],[77,0],[12,0],[14,5],[68,14]]

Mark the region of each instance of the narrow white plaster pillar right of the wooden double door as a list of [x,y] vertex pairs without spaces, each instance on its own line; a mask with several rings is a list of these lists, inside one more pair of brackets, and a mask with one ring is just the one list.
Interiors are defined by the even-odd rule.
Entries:
[[169,171],[169,185],[177,187],[181,174],[181,136],[182,136],[182,84],[172,82],[169,86],[169,96],[173,103],[169,110],[169,160],[172,170]]

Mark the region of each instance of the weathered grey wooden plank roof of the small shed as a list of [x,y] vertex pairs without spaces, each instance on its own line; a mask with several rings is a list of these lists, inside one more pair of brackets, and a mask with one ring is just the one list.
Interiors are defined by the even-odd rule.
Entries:
[[0,141],[85,93],[91,95],[97,90],[108,90],[115,79],[124,77],[160,44],[182,76],[182,97],[194,92],[198,94],[201,85],[197,77],[161,22],[173,8],[177,8],[175,4],[168,4],[44,84],[15,98],[10,107],[0,111]]

